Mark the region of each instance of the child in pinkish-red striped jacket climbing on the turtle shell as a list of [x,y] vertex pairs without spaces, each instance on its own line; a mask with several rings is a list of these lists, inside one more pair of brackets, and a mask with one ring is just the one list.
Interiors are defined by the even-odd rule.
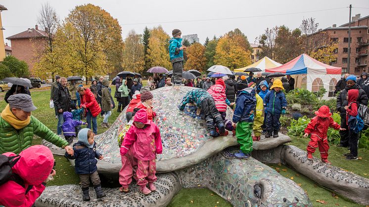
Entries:
[[[208,93],[213,97],[215,102],[215,108],[218,109],[219,113],[222,115],[222,119],[224,120],[224,124],[226,125],[226,129],[229,131],[233,130],[232,122],[226,119],[226,111],[227,105],[232,106],[234,103],[231,103],[226,96],[226,84],[224,83],[223,79],[218,79],[215,82],[215,85],[212,85],[208,89]],[[228,135],[226,131],[225,134],[221,135]]]

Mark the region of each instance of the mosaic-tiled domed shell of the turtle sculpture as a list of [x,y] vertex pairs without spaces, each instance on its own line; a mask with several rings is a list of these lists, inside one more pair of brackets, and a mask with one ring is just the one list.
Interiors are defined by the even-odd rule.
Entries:
[[[162,135],[163,154],[158,155],[157,161],[169,160],[192,154],[199,149],[206,140],[212,139],[205,122],[196,114],[197,107],[188,105],[184,111],[178,109],[185,94],[193,87],[162,87],[151,91],[154,111],[157,117],[154,123],[158,125]],[[104,133],[95,136],[97,149],[104,154],[104,161],[120,164],[119,146],[117,137],[127,123],[126,109],[119,115],[112,126]],[[233,112],[227,111],[228,119]]]

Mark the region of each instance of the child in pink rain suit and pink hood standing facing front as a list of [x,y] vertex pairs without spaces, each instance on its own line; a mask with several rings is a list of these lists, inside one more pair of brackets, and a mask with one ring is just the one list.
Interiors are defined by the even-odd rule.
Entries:
[[[147,195],[156,190],[156,154],[162,153],[163,146],[158,126],[147,119],[144,109],[136,113],[134,123],[124,137],[120,154],[125,156],[131,146],[132,154],[138,160],[137,184],[140,191]],[[147,183],[149,189],[146,187]]]

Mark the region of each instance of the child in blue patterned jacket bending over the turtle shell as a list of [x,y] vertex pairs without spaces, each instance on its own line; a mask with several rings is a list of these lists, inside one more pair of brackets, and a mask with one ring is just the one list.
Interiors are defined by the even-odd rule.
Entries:
[[[219,133],[225,133],[226,127],[224,125],[224,121],[218,109],[215,107],[213,97],[211,97],[207,91],[199,88],[188,91],[183,97],[178,108],[181,111],[185,110],[187,103],[195,103],[197,109],[201,109],[203,113],[202,118],[205,120],[206,126],[210,131],[210,136],[217,137],[219,136]],[[216,126],[219,129],[219,133],[216,131]]]

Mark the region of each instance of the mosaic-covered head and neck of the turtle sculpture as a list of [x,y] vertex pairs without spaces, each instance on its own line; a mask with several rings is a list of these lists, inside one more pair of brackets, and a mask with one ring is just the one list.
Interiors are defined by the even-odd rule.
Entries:
[[[312,206],[295,182],[253,158],[234,158],[237,151],[228,148],[198,165],[179,170],[183,187],[207,187],[235,207]],[[255,196],[256,186],[262,189],[259,197]]]

